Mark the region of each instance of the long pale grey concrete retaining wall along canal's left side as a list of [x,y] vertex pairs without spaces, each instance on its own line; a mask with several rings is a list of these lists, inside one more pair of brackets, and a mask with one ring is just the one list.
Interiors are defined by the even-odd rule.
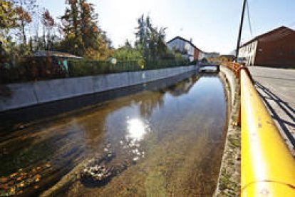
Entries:
[[11,95],[0,95],[0,112],[143,84],[184,74],[194,69],[195,66],[182,66],[170,69],[7,84],[6,88],[9,89]]

